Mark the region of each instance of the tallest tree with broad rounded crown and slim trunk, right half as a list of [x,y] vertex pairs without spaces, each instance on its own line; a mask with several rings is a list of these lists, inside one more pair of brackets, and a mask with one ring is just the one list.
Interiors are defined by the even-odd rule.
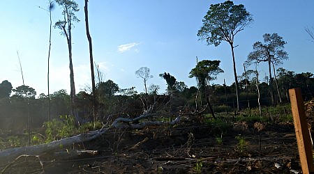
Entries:
[[239,84],[237,79],[236,62],[234,58],[234,36],[253,22],[253,17],[246,11],[244,5],[234,5],[232,1],[211,4],[203,25],[197,32],[200,40],[206,40],[208,45],[220,45],[221,41],[229,43],[232,52],[234,81],[237,91],[237,109],[239,110]]

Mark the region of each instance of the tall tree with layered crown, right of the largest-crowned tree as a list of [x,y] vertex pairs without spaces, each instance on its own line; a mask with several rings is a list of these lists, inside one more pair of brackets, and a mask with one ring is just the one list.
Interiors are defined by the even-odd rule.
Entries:
[[253,63],[267,62],[269,68],[269,92],[271,94],[271,102],[275,104],[274,97],[274,79],[271,75],[271,65],[281,65],[283,61],[288,58],[285,48],[285,42],[281,36],[277,33],[263,35],[264,43],[255,42],[253,44],[253,52],[248,54],[248,60],[246,64],[251,65]]

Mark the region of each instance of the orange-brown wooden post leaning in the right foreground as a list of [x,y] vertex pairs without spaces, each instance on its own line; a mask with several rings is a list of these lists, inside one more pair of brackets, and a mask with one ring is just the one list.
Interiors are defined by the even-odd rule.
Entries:
[[289,90],[295,135],[303,173],[314,173],[312,143],[300,88]]

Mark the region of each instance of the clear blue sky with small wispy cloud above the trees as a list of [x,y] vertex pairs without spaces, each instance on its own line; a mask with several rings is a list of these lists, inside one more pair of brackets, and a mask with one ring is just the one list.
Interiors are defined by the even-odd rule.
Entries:
[[[178,81],[196,86],[188,73],[195,67],[196,56],[220,60],[225,72],[214,84],[227,85],[234,81],[230,46],[222,42],[218,47],[199,41],[197,31],[202,26],[214,0],[90,0],[89,28],[93,41],[94,61],[103,72],[103,80],[111,79],[120,88],[135,86],[144,92],[142,79],[135,71],[141,67],[151,70],[153,79],[148,84],[166,84],[158,74],[169,72]],[[77,93],[90,86],[89,47],[84,24],[84,1],[77,1],[81,20],[73,29],[73,65]],[[264,33],[278,33],[287,42],[289,60],[283,67],[294,72],[314,72],[314,44],[304,27],[314,26],[314,1],[242,0],[254,22],[238,33],[234,52],[237,73],[244,72],[243,63],[253,49],[254,42],[262,41]],[[13,88],[22,85],[20,55],[25,85],[35,88],[38,95],[47,94],[47,55],[49,46],[49,13],[45,0],[3,0],[0,10],[0,82],[8,80]],[[61,8],[52,11],[52,22],[62,19]],[[66,38],[59,29],[52,29],[50,59],[50,91],[70,91],[68,49]],[[278,68],[278,67],[277,67]],[[248,68],[250,69],[250,68]],[[260,66],[260,73],[267,72]]]

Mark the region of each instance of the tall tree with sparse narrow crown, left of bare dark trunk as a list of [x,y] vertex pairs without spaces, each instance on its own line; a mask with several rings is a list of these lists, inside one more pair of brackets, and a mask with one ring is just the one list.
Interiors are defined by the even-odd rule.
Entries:
[[63,20],[59,20],[54,24],[54,27],[61,29],[61,34],[66,36],[68,42],[68,58],[70,61],[70,100],[71,100],[71,113],[75,116],[77,122],[79,118],[75,109],[75,83],[74,83],[74,71],[72,63],[72,26],[73,22],[80,22],[74,13],[79,11],[78,5],[73,0],[56,0],[56,2],[63,8],[62,15]]

